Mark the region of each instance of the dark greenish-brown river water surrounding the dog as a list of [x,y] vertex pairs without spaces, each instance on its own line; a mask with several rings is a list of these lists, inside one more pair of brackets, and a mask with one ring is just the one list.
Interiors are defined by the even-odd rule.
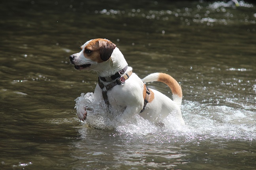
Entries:
[[[0,169],[256,169],[251,3],[1,2]],[[158,127],[139,116],[113,129],[79,121],[75,99],[98,79],[75,70],[69,56],[95,38],[117,44],[140,78],[177,79],[186,126],[167,118]],[[148,86],[171,97],[163,83]]]

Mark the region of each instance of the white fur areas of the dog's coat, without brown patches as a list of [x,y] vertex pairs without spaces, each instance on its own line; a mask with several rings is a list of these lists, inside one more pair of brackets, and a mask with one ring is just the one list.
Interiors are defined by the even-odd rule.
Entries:
[[[82,46],[82,49],[87,44],[89,44],[90,41],[87,41]],[[83,50],[77,54],[73,54],[73,56],[75,56],[75,58],[73,59],[73,63],[75,65],[91,64],[90,67],[85,69],[94,70],[101,77],[111,76],[128,65],[126,60],[124,59],[124,56],[117,47],[113,50],[113,53],[109,60],[102,63],[97,63],[86,58],[83,54]],[[126,72],[129,72],[130,70],[132,70],[132,67],[128,67]],[[151,74],[142,80],[145,82],[149,82],[157,81],[157,79],[158,74]],[[151,89],[151,91],[154,93],[154,100],[147,103],[145,110],[140,113],[144,104],[144,83],[142,80],[135,73],[132,73],[130,78],[125,81],[125,85],[116,85],[107,92],[111,107],[123,111],[122,115],[120,116],[122,119],[121,121],[128,120],[135,114],[139,114],[143,118],[148,119],[151,122],[157,123],[164,120],[166,116],[171,114],[174,120],[178,120],[181,125],[184,125],[184,120],[182,118],[180,109],[181,98],[179,98],[179,96],[177,95],[173,95],[175,101],[173,102],[173,100],[171,100],[161,92]],[[103,83],[105,85],[107,84],[106,82]],[[96,88],[94,90],[94,100],[103,100],[102,91],[98,84],[96,85]],[[85,120],[87,116],[85,106],[80,105],[77,108],[77,115],[81,120]]]

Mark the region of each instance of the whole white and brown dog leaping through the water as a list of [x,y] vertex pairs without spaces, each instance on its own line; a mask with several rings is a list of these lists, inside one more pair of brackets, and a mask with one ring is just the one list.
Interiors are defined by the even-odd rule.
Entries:
[[[99,80],[94,90],[94,100],[104,100],[106,105],[123,110],[123,120],[139,114],[153,123],[164,120],[168,115],[184,125],[181,115],[182,91],[177,81],[164,73],[153,73],[140,79],[128,67],[124,56],[116,45],[107,39],[93,39],[81,46],[81,52],[70,55],[70,63],[77,70],[94,70]],[[143,82],[166,83],[173,94],[173,100],[154,89],[148,89]],[[87,117],[87,108],[79,106],[80,120]]]

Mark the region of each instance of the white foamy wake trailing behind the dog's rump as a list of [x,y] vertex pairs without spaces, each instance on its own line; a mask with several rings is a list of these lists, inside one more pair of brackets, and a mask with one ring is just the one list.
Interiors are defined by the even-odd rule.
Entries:
[[188,131],[197,137],[226,139],[256,139],[256,117],[252,111],[225,105],[201,104],[185,101],[183,115]]

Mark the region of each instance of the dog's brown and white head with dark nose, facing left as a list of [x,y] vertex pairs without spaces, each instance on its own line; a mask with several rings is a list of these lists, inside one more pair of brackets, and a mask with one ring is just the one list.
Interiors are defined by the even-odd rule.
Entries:
[[93,39],[81,46],[81,52],[70,55],[70,63],[75,69],[90,70],[94,65],[109,60],[116,45],[107,39]]

